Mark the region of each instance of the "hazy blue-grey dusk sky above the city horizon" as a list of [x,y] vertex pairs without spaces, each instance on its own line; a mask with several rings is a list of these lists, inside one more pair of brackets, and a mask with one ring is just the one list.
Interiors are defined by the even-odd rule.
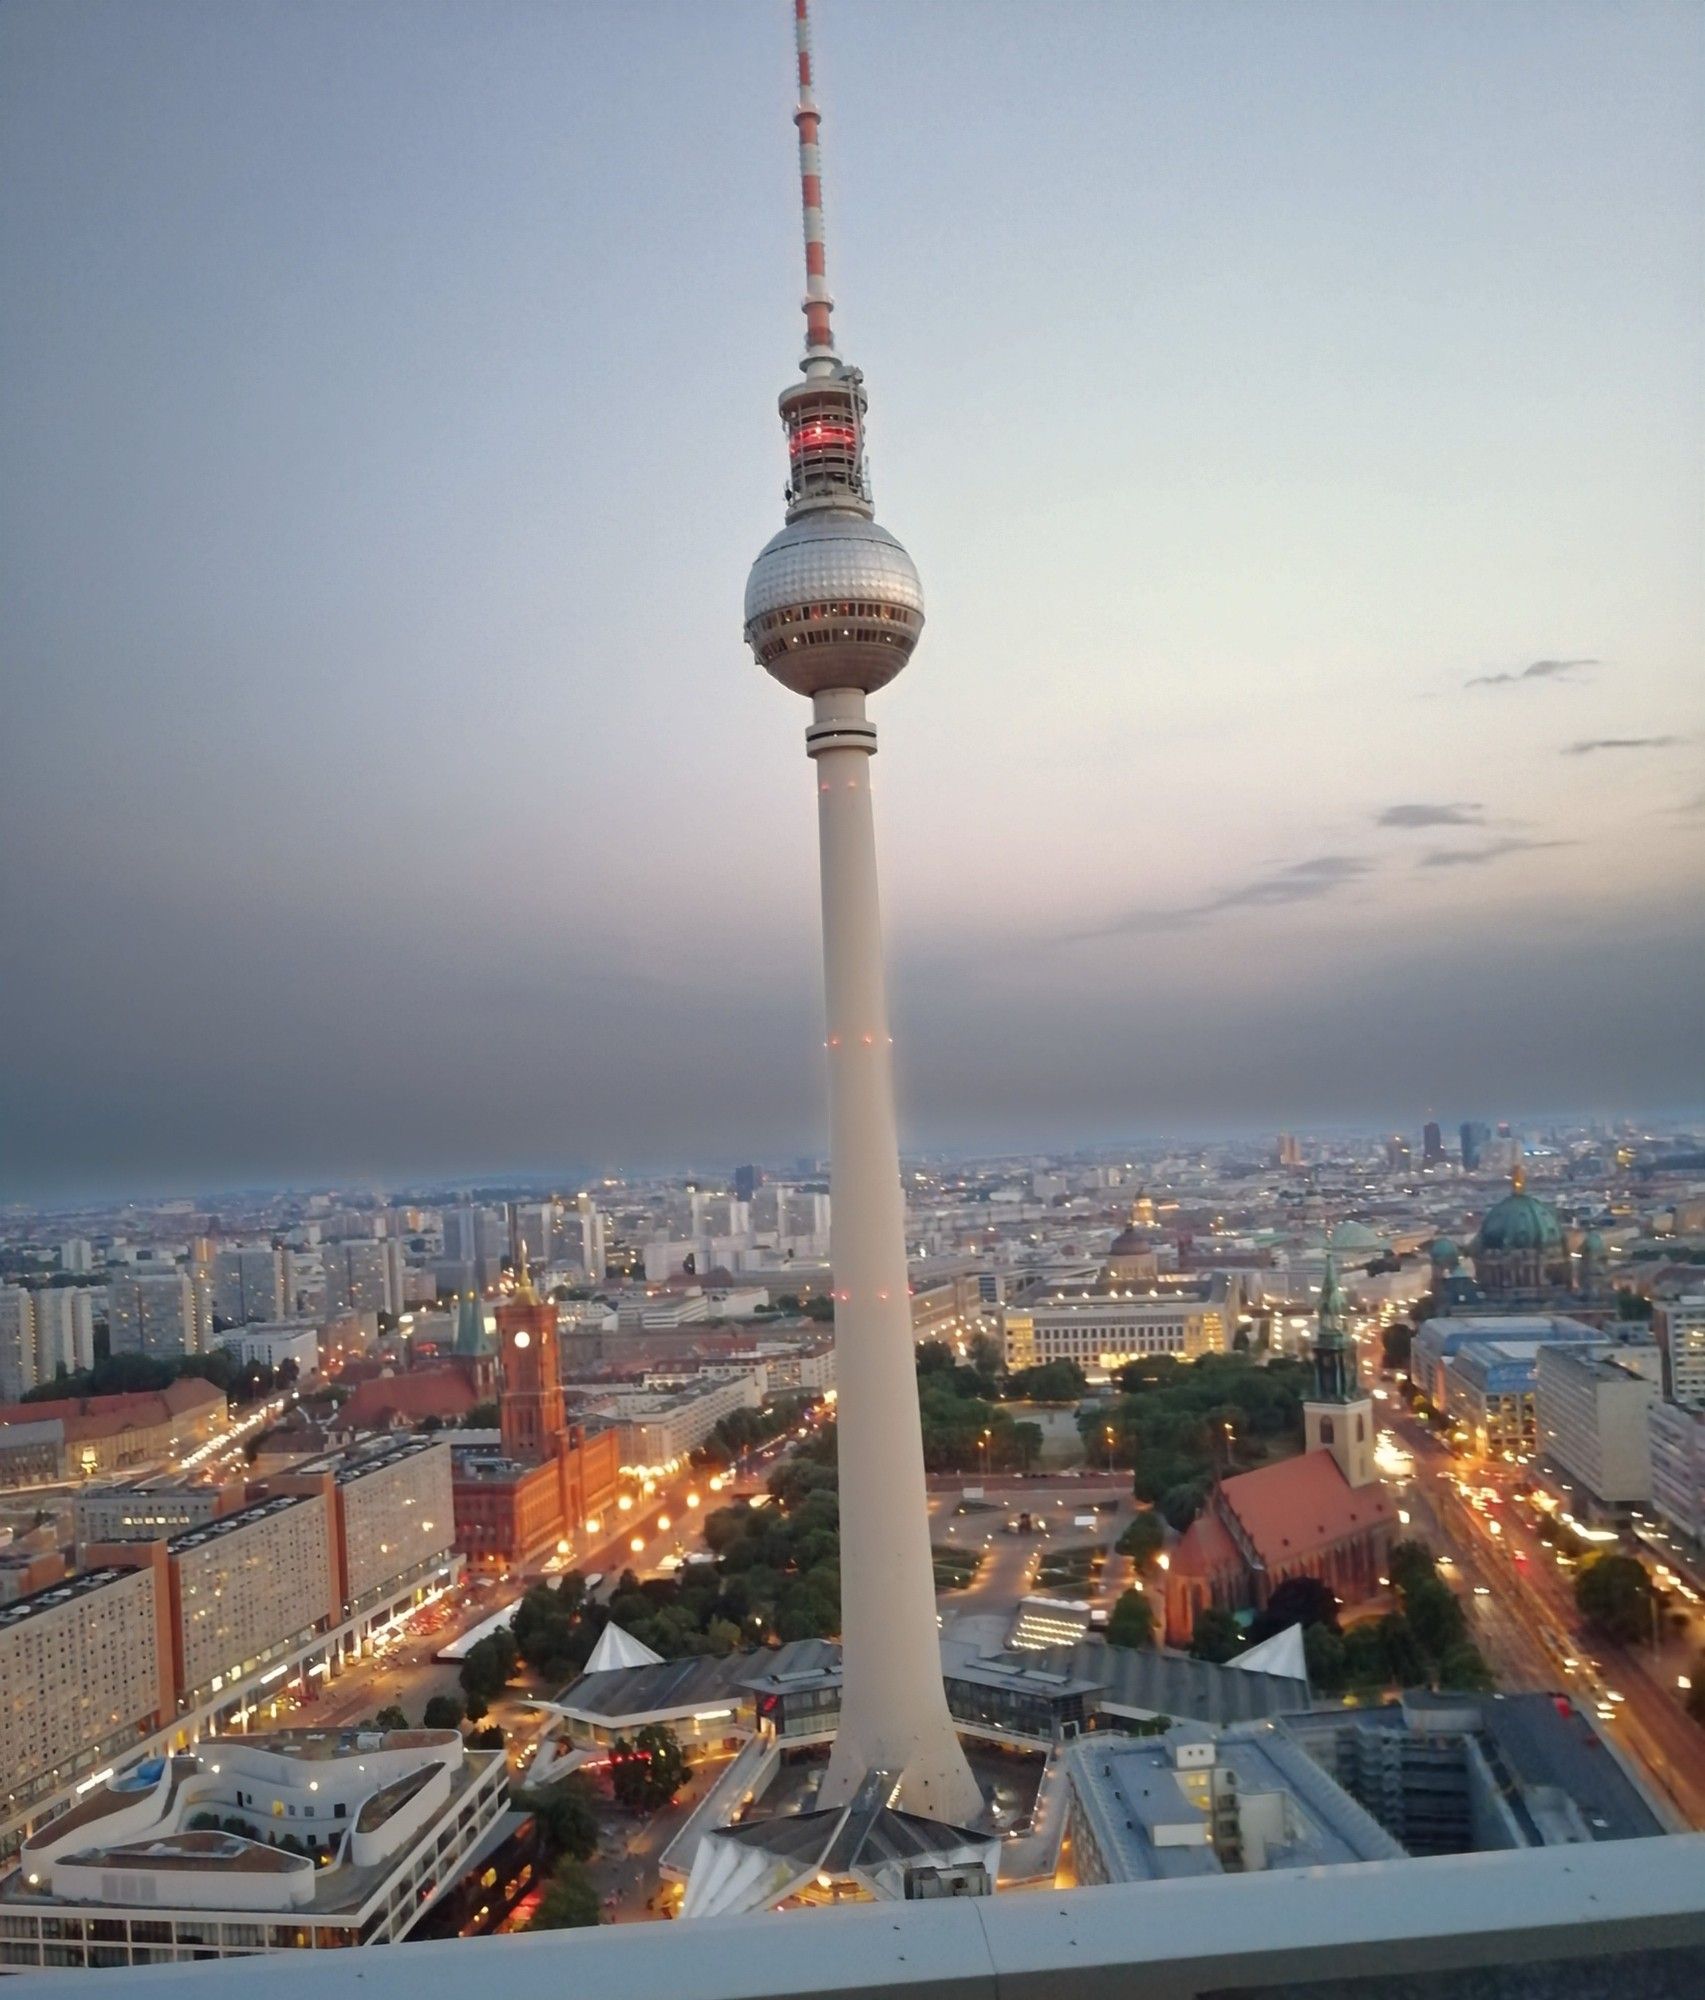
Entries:
[[[822,1144],[782,0],[0,10],[0,1186]],[[822,0],[907,1142],[1699,1104],[1677,4]]]

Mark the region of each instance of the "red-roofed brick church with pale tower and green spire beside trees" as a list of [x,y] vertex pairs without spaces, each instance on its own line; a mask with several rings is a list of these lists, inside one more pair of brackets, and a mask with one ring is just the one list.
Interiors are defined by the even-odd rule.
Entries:
[[1321,1280],[1315,1390],[1305,1450],[1219,1482],[1167,1570],[1167,1642],[1187,1646],[1197,1614],[1261,1610],[1291,1576],[1317,1576],[1345,1604],[1377,1596],[1397,1508],[1373,1466],[1373,1400],[1357,1374],[1331,1256]]

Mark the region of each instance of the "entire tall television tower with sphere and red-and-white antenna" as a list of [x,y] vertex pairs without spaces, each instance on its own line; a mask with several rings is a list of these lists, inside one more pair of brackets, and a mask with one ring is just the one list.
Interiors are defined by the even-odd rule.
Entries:
[[983,1794],[941,1684],[871,816],[877,728],[865,712],[913,656],[923,586],[873,516],[865,378],[834,352],[828,326],[808,0],[794,0],[794,32],[804,360],[802,380],[780,394],[786,526],[746,580],[746,644],[784,688],[810,696],[804,754],[822,860],[842,1690],[818,1806],[850,1804],[883,1772],[891,1804],[963,1824]]

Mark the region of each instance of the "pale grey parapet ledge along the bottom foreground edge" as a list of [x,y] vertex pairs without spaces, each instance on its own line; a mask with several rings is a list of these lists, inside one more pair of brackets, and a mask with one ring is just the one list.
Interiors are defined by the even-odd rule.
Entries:
[[[1417,1894],[1417,1866],[1425,1894]],[[782,1918],[612,1924],[364,1952],[250,1958],[244,2000],[1557,2000],[1705,1988],[1705,1836],[1037,1890]],[[810,1942],[802,1948],[800,1926]],[[230,1966],[102,1972],[100,1992],[222,2000]],[[64,1994],[24,1976],[16,2000]],[[8,1996],[10,2000],[10,1996]]]

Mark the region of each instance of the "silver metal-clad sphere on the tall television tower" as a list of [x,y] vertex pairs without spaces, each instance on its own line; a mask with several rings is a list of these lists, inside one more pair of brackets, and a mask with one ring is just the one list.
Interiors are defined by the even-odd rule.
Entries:
[[746,578],[746,644],[794,694],[885,688],[923,632],[913,558],[850,508],[812,508],[772,536]]

